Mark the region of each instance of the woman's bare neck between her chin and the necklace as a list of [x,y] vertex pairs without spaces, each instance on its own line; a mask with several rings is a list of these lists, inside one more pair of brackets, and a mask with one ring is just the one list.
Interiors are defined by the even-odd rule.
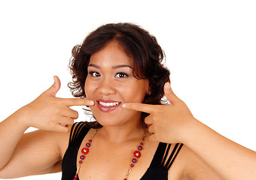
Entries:
[[99,133],[109,142],[125,142],[130,139],[141,139],[145,132],[145,127],[141,124],[125,124],[120,126],[103,126]]

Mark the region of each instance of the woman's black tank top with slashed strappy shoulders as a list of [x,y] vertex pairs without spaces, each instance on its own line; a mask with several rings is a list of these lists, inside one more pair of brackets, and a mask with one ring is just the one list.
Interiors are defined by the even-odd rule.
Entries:
[[[78,150],[80,148],[81,142],[86,136],[90,127],[84,122],[78,122],[72,126],[69,138],[69,147],[64,154],[62,159],[62,180],[72,180],[74,179],[76,166],[77,166],[77,156]],[[175,144],[172,153],[169,155],[167,161],[166,158],[169,154],[169,149],[171,144],[166,144],[160,142],[157,151],[154,154],[153,160],[148,170],[142,176],[141,180],[166,180],[168,179],[168,170],[172,166],[172,163],[177,157],[178,152],[181,150],[182,143]],[[166,162],[166,163],[164,163]],[[164,164],[163,164],[164,163]],[[78,178],[79,179],[79,178]]]

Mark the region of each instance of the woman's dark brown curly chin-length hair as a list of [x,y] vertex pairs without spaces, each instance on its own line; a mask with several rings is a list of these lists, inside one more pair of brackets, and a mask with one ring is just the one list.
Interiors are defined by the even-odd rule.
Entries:
[[[68,84],[72,95],[86,98],[84,83],[90,56],[102,49],[111,40],[123,47],[126,55],[133,58],[133,76],[149,80],[151,95],[145,95],[144,104],[163,104],[163,86],[169,82],[169,70],[162,64],[164,52],[156,37],[132,23],[110,23],[92,31],[80,45],[72,49],[69,70],[72,82]],[[142,121],[147,116],[142,113]]]

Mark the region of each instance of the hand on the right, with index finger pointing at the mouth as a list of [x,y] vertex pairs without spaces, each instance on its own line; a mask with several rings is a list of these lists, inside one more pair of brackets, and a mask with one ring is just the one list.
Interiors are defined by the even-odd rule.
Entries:
[[197,119],[194,118],[187,105],[172,92],[169,83],[164,85],[164,93],[171,104],[126,103],[122,107],[150,114],[145,118],[148,131],[151,133],[150,140],[167,143],[184,142],[186,139],[184,135],[187,135],[186,132],[193,128]]

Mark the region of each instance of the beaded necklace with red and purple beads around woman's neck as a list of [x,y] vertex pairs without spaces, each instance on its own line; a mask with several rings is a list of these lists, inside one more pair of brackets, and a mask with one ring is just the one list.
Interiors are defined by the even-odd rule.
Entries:
[[[90,148],[91,143],[93,142],[93,137],[96,135],[97,132],[98,132],[98,130],[96,129],[95,132],[93,133],[93,136],[91,136],[91,138],[86,143],[86,147],[82,148],[82,150],[81,150],[82,155],[80,156],[78,170],[77,170],[77,172],[75,172],[75,176],[74,176],[73,180],[77,180],[78,179],[78,174],[80,173],[80,169],[81,169],[82,163],[83,163],[83,161],[85,159],[85,155],[89,153],[89,148]],[[142,141],[139,143],[138,150],[133,152],[132,163],[130,164],[129,170],[126,173],[126,178],[123,178],[123,180],[128,180],[130,172],[132,171],[133,167],[135,166],[135,163],[137,162],[137,159],[139,159],[139,157],[142,156],[140,151],[142,150],[142,145],[143,145],[145,136],[146,136],[146,130],[145,130],[145,133],[144,133],[144,135],[142,137]]]

